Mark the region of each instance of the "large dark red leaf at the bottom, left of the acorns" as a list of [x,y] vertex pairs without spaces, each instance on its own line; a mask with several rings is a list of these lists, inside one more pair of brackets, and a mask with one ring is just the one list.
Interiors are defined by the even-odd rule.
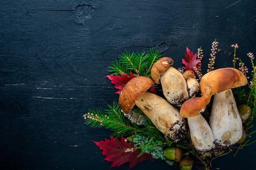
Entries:
[[137,149],[134,151],[127,152],[124,149],[130,149],[134,147],[134,143],[127,143],[122,136],[121,141],[115,137],[111,137],[110,140],[105,139],[105,141],[95,142],[94,143],[102,149],[102,154],[106,155],[104,160],[112,161],[110,167],[121,166],[123,163],[130,162],[129,168],[134,167],[138,162],[144,161],[146,159],[154,160],[152,155],[144,153],[140,157],[137,157],[141,150]]

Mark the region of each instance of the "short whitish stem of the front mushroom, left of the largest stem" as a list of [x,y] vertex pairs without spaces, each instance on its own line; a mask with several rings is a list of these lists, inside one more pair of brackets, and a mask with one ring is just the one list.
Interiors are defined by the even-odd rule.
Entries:
[[198,150],[211,150],[215,147],[213,133],[207,121],[199,114],[188,118],[191,140]]

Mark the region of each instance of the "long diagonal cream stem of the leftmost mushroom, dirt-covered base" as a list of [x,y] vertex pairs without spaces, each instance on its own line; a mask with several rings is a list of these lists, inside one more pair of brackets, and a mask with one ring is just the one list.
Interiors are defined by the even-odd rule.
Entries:
[[137,100],[136,104],[156,126],[165,134],[167,139],[176,142],[184,138],[186,134],[186,122],[168,101],[164,98],[145,92]]

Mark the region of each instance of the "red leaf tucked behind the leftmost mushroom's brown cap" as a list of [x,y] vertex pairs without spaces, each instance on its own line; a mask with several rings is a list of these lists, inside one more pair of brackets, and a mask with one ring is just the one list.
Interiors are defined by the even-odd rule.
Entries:
[[117,94],[121,93],[121,90],[124,88],[124,86],[126,85],[126,83],[128,83],[128,81],[130,81],[132,78],[135,78],[135,76],[132,74],[132,72],[130,72],[130,76],[128,76],[127,74],[121,73],[121,77],[118,75],[108,75],[106,76],[111,80],[111,83],[115,84],[115,88],[119,89],[117,92]]

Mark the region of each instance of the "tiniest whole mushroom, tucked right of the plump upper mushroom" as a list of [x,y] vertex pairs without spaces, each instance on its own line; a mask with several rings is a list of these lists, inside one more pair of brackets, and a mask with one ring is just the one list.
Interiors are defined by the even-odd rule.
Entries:
[[192,70],[186,70],[183,73],[183,77],[186,80],[186,85],[189,92],[189,97],[195,97],[195,94],[199,91],[199,83],[195,79],[195,74]]

